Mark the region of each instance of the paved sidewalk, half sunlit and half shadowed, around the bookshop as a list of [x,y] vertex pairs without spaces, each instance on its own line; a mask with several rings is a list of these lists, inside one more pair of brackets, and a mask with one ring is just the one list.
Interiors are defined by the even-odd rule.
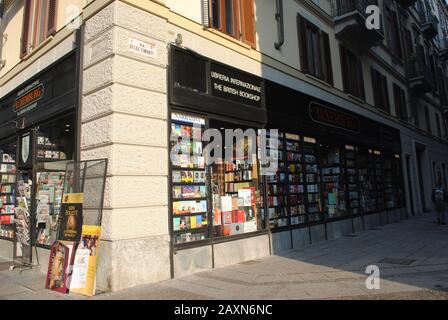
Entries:
[[[427,214],[282,256],[93,299],[448,299],[448,226],[434,220]],[[45,290],[43,274],[9,271],[9,265],[0,260],[0,299],[85,299]],[[380,268],[379,290],[366,288],[368,265]]]

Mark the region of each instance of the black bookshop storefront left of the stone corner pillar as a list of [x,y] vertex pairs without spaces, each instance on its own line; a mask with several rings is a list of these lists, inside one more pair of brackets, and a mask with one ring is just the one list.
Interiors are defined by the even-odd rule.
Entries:
[[[0,248],[14,239],[17,182],[27,190],[22,244],[49,248],[57,232],[65,162],[76,152],[76,54],[71,53],[0,101]],[[1,254],[9,256],[10,252]]]

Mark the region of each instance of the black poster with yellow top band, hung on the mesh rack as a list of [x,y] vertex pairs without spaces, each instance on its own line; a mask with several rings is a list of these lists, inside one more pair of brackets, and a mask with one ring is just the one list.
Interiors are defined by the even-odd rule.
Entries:
[[83,193],[64,194],[61,205],[59,240],[79,242],[82,230]]

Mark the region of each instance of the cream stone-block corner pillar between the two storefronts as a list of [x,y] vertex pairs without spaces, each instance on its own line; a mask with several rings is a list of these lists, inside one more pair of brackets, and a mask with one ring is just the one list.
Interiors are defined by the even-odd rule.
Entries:
[[[170,277],[166,20],[114,1],[86,21],[82,160],[107,158],[98,286]],[[154,57],[129,39],[155,45]]]

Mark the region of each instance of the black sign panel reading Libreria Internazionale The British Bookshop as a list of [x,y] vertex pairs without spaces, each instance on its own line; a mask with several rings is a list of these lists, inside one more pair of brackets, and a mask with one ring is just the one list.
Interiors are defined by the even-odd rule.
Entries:
[[262,80],[223,65],[210,65],[211,94],[234,102],[262,107]]

